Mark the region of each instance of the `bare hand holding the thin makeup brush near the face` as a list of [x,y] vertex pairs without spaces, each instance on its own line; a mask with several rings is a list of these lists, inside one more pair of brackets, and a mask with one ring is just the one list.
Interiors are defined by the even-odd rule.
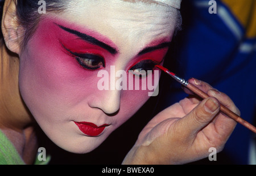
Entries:
[[209,155],[209,148],[220,152],[236,122],[220,113],[220,103],[234,113],[240,111],[233,101],[209,84],[196,79],[189,83],[210,97],[190,96],[161,111],[143,128],[123,164],[185,164]]

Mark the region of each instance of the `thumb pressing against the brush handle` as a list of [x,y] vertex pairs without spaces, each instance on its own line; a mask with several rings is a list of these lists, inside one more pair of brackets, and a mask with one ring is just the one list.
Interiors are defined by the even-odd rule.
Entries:
[[220,110],[220,104],[216,98],[205,98],[190,113],[181,118],[181,130],[186,136],[196,135],[201,129],[208,125]]

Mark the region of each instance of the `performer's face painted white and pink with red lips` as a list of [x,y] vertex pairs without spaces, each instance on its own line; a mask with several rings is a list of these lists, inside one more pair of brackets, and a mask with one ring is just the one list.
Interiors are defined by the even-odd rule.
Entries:
[[110,77],[114,66],[129,75],[131,68],[146,70],[145,60],[162,63],[175,29],[169,10],[117,0],[72,1],[62,14],[40,20],[20,53],[19,85],[54,143],[90,152],[148,100],[147,89],[100,90],[98,72]]

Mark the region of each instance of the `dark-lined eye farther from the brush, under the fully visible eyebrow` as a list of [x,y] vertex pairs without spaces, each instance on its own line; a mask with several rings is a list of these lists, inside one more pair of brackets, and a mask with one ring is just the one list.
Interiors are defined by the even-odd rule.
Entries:
[[89,70],[97,70],[98,68],[105,67],[104,58],[94,54],[75,54],[76,61]]

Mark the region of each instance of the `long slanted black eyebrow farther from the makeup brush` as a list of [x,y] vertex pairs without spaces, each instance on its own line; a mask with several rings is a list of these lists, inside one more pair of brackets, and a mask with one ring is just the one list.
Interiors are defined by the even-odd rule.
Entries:
[[72,33],[73,35],[76,35],[77,37],[81,38],[84,41],[87,41],[94,45],[98,45],[101,48],[108,50],[109,53],[111,53],[111,54],[117,54],[117,50],[115,48],[113,48],[112,46],[109,46],[108,44],[105,44],[104,42],[102,42],[100,40],[97,40],[96,38],[94,38],[92,36],[86,35],[85,33],[81,33],[79,31],[75,31],[74,29],[69,29],[69,28],[59,25],[59,24],[57,24],[57,25],[64,31]]

